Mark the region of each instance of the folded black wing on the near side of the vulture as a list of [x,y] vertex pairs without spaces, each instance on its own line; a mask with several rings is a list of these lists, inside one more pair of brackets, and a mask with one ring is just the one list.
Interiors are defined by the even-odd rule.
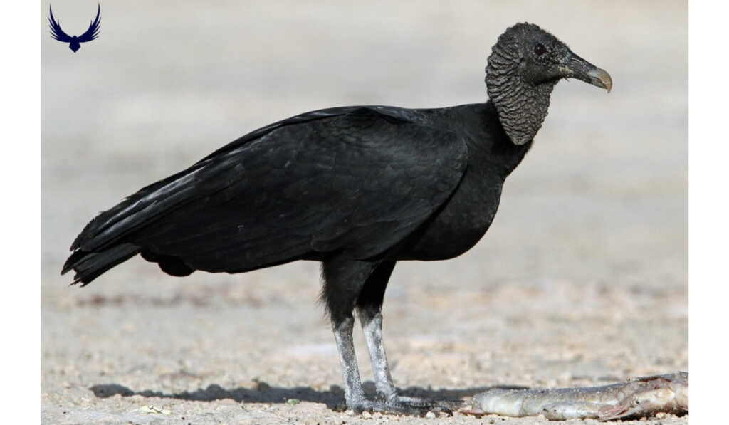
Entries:
[[445,203],[467,149],[415,113],[377,108],[310,112],[243,136],[102,213],[72,249],[130,243],[208,271],[383,254]]

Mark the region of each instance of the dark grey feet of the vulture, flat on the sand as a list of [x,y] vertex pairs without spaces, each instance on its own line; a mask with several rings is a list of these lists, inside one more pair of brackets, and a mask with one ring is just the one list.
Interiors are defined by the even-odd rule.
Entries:
[[348,408],[356,413],[379,412],[395,415],[426,416],[429,412],[436,415],[445,414],[453,416],[454,408],[457,408],[460,400],[433,400],[420,397],[391,396],[386,399],[361,399],[351,402]]

